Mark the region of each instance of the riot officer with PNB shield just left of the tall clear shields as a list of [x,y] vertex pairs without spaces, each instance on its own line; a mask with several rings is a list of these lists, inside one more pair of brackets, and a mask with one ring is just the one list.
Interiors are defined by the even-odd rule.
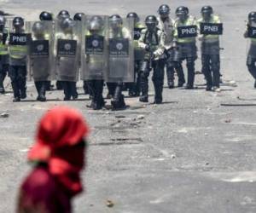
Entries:
[[[28,37],[24,37],[24,20],[15,17],[13,33],[9,35],[9,77],[14,90],[14,102],[26,98],[26,57]],[[15,39],[20,37],[22,39]]]

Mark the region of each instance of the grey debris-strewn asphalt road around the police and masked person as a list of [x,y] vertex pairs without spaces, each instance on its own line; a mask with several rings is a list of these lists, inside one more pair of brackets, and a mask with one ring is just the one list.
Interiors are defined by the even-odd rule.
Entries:
[[[42,9],[89,14],[155,14],[165,1],[1,1],[1,9],[26,15]],[[52,91],[48,102],[38,103],[33,83],[28,99],[12,102],[9,92],[0,96],[0,212],[15,211],[20,181],[30,169],[26,151],[32,146],[38,119],[49,108],[66,104],[79,108],[91,127],[86,170],[86,191],[74,200],[77,213],[253,213],[256,212],[256,95],[248,74],[247,41],[242,37],[253,0],[172,1],[173,11],[183,4],[198,16],[201,6],[212,4],[224,20],[221,72],[225,82],[220,93],[206,92],[202,75],[194,90],[164,89],[164,104],[143,105],[127,98],[125,111],[91,111],[88,96],[61,101]],[[200,70],[200,57],[197,60]],[[79,92],[83,90],[79,85]],[[151,92],[153,89],[151,87]],[[153,101],[153,96],[150,96]],[[109,104],[109,101],[108,101]],[[231,105],[252,105],[228,107]],[[107,200],[113,207],[107,206]]]

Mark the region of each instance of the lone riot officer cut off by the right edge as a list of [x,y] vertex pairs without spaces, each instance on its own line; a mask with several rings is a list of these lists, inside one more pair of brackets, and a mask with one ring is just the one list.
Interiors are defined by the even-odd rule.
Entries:
[[247,69],[253,76],[254,88],[256,89],[256,36],[253,33],[253,29],[256,27],[256,12],[248,14],[247,30],[244,33],[244,37],[250,39],[250,48],[247,53]]

